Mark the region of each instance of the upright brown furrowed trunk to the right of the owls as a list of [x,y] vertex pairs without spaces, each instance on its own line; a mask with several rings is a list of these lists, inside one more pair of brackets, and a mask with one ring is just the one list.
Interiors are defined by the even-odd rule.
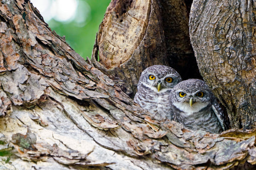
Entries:
[[190,13],[199,70],[233,128],[256,127],[255,3],[196,0]]

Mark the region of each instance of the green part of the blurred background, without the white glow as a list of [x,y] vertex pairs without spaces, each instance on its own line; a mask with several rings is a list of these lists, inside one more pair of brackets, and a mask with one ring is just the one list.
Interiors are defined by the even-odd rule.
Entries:
[[[81,27],[75,21],[59,22],[54,19],[48,22],[49,27],[58,35],[65,36],[67,43],[82,57],[91,57],[96,33],[103,20],[110,0],[83,0],[91,7],[86,24]],[[78,4],[79,6],[79,4]],[[86,10],[86,9],[84,9]]]

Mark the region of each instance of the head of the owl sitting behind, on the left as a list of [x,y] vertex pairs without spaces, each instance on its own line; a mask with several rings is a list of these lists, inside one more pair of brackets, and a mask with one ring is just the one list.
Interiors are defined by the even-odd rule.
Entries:
[[150,88],[155,92],[164,92],[171,89],[181,81],[180,74],[165,65],[153,65],[145,69],[140,76],[140,84]]

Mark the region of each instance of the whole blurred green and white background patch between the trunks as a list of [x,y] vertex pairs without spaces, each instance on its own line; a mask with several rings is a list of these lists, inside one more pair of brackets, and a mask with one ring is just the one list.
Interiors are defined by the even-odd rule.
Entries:
[[[43,15],[49,27],[55,30],[58,35],[65,36],[67,43],[79,55],[84,58],[91,57],[96,33],[110,0],[48,0],[48,6],[46,7],[44,6],[46,1],[38,0],[36,2],[36,0],[31,0],[31,2]],[[42,4],[42,2],[45,3]],[[66,21],[60,20],[59,18],[65,13],[58,12],[58,10],[73,11],[72,7],[74,5],[70,4],[72,2],[76,4],[74,16]],[[64,3],[66,3],[66,6]],[[70,10],[68,10],[69,8]]]

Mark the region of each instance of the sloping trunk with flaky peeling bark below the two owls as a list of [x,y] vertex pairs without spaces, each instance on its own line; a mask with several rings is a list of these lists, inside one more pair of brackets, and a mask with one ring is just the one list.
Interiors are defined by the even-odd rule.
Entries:
[[29,1],[1,1],[0,26],[1,169],[255,168],[255,131],[151,119]]

